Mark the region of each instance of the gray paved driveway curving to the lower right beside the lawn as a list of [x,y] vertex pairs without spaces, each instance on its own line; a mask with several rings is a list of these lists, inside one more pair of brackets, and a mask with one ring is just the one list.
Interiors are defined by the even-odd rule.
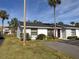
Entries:
[[74,59],[79,59],[79,46],[60,42],[45,42],[44,44],[48,47],[61,51]]

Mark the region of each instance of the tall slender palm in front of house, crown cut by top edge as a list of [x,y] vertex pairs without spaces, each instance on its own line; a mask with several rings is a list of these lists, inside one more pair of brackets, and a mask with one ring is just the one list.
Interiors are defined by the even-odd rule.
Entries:
[[55,23],[55,37],[56,37],[56,6],[61,4],[61,0],[48,0],[48,4],[54,7],[54,23]]

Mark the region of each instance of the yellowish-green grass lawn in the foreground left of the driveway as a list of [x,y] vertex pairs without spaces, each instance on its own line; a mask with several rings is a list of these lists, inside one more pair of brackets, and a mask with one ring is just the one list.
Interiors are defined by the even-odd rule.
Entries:
[[0,46],[0,59],[72,59],[42,45],[41,41],[28,41],[26,46],[15,37],[7,36]]

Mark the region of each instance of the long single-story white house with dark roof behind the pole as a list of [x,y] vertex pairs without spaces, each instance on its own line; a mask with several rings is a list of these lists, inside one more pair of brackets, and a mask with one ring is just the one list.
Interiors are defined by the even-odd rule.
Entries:
[[[24,32],[23,28],[23,22],[19,22],[19,27],[17,30],[18,38],[20,38],[20,33]],[[26,32],[30,35],[32,40],[35,40],[39,34],[45,34],[46,36],[55,35],[54,25],[49,23],[26,23]],[[79,27],[71,25],[56,26],[56,37],[67,39],[68,36],[79,37]]]

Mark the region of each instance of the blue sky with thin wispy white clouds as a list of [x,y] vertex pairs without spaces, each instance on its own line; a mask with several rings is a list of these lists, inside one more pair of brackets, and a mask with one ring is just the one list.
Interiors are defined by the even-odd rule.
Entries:
[[[26,5],[27,20],[54,22],[53,7],[48,5],[48,0],[27,0]],[[9,14],[9,20],[5,21],[5,25],[14,17],[23,21],[23,0],[0,0],[0,10],[6,10]],[[67,24],[71,21],[79,22],[79,0],[61,0],[61,4],[56,7],[56,21]]]

